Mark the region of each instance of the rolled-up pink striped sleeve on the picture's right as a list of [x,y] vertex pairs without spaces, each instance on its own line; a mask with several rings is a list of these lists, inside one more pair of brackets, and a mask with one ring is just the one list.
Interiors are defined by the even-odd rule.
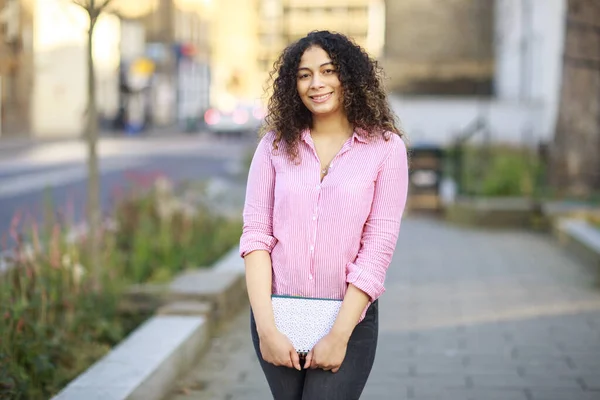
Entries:
[[371,212],[365,223],[361,247],[347,265],[346,281],[375,301],[385,291],[384,282],[400,233],[408,191],[406,146],[395,136],[393,149],[379,169]]

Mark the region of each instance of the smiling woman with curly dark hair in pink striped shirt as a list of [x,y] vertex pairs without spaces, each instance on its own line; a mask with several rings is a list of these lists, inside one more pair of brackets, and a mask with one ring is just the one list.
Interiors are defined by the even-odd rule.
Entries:
[[[276,400],[358,399],[406,203],[406,147],[377,63],[347,37],[310,33],[272,76],[240,239],[254,346]],[[306,357],[277,330],[273,294],[343,299]]]

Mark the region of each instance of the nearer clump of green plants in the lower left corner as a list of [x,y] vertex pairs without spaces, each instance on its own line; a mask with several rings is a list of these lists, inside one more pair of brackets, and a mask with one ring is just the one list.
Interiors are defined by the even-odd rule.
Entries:
[[0,398],[48,398],[125,334],[119,281],[94,282],[81,244],[67,243],[58,223],[31,236],[34,247],[17,248],[0,279]]

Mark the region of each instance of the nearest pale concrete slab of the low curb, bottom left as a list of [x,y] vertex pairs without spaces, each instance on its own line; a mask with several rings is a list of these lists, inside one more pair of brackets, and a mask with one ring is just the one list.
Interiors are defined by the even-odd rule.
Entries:
[[202,317],[155,316],[53,400],[160,400],[208,342]]

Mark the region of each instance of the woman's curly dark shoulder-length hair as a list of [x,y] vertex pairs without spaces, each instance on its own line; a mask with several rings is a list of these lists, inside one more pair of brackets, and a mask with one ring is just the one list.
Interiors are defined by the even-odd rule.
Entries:
[[273,93],[261,134],[275,133],[273,147],[277,149],[283,141],[287,155],[297,160],[300,135],[312,127],[312,114],[302,103],[296,81],[300,59],[313,46],[325,50],[338,71],[344,111],[357,134],[385,137],[385,132],[394,132],[403,136],[387,102],[383,70],[377,61],[343,34],[313,31],[289,45],[270,73]]

